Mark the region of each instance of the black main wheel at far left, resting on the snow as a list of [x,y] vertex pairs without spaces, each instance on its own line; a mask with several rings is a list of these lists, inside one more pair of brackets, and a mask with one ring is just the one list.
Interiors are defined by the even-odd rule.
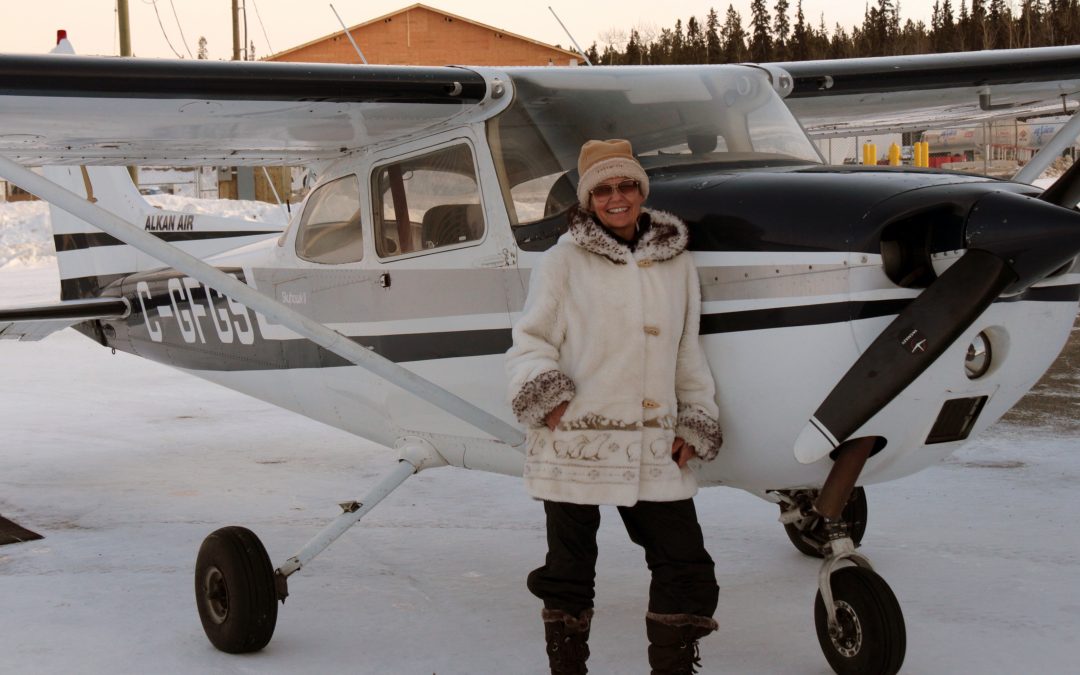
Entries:
[[270,556],[252,530],[222,527],[203,540],[195,561],[195,603],[210,642],[228,653],[267,646],[278,623]]

